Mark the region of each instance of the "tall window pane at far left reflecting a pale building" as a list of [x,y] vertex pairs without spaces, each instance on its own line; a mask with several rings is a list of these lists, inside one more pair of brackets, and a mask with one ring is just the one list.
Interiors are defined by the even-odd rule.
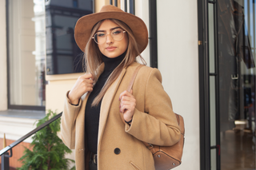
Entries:
[[44,0],[8,2],[10,105],[44,106]]

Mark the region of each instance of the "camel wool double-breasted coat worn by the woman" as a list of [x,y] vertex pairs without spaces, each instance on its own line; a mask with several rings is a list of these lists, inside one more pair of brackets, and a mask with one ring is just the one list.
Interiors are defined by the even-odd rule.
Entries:
[[[118,100],[127,89],[134,70],[134,62],[122,69],[120,76],[106,91],[98,127],[98,170],[154,170],[152,153],[142,143],[173,145],[180,139],[180,129],[170,97],[162,88],[158,69],[142,67],[134,81],[133,95],[136,109],[131,125],[120,117]],[[99,73],[104,64],[99,66]],[[78,106],[70,105],[66,97],[62,113],[61,136],[67,147],[75,149],[78,170],[87,169],[88,152],[85,136],[85,107],[89,93],[82,96]]]

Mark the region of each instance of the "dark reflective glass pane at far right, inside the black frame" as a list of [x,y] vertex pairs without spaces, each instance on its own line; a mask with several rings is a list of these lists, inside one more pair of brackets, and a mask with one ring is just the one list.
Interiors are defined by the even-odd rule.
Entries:
[[255,169],[255,3],[218,1],[221,169]]

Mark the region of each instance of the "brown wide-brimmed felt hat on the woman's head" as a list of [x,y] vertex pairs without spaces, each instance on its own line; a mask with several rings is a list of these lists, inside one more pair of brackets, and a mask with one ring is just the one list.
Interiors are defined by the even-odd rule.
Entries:
[[86,44],[89,41],[91,30],[94,25],[103,19],[118,19],[132,30],[136,42],[138,43],[138,50],[140,53],[146,49],[148,43],[148,31],[146,24],[141,18],[136,17],[133,14],[129,14],[119,9],[116,6],[106,5],[102,6],[102,9],[98,13],[88,14],[78,19],[74,27],[74,39],[77,42],[79,48],[85,52]]

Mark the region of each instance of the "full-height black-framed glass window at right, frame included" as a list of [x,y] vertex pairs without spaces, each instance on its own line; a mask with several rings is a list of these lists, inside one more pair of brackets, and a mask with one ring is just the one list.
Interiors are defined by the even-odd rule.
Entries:
[[201,168],[255,169],[255,3],[198,2]]

